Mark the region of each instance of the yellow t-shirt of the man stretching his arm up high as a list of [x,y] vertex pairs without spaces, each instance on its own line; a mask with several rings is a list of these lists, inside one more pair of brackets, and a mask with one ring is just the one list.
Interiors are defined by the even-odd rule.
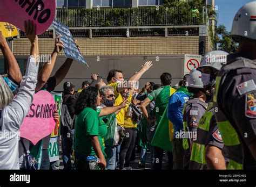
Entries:
[[[121,93],[119,93],[117,91],[118,83],[111,83],[111,84],[107,84],[107,85],[114,88],[114,97],[116,97],[116,101],[114,102],[114,105],[117,106],[117,105],[121,104],[124,101],[124,99],[123,99]],[[116,115],[116,118],[117,118],[117,124],[124,126],[124,109],[120,110],[120,112]]]

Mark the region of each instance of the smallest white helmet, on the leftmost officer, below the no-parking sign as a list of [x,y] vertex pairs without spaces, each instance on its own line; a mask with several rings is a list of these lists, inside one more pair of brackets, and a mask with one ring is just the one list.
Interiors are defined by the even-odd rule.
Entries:
[[188,87],[191,88],[204,88],[203,82],[201,80],[202,73],[196,68],[190,71],[190,76],[187,78]]

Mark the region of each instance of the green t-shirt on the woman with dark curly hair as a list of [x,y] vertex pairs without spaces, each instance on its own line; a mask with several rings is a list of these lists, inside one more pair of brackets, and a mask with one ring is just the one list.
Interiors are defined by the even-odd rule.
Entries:
[[90,107],[80,112],[75,124],[74,149],[85,155],[96,155],[92,147],[90,135],[98,136],[102,152],[105,149],[104,136],[107,133],[107,126],[102,119],[99,119],[100,109],[97,111]]

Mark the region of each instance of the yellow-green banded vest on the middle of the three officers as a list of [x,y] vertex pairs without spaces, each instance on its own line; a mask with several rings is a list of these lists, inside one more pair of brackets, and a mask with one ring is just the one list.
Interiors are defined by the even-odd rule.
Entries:
[[207,169],[207,163],[205,160],[205,143],[210,128],[210,120],[214,113],[214,104],[211,102],[209,103],[204,116],[199,120],[197,126],[197,140],[194,141],[192,145],[189,169]]

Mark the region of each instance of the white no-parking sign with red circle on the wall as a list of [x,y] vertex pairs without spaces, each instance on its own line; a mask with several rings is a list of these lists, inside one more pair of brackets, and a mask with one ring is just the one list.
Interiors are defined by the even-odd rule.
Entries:
[[194,68],[198,68],[201,62],[201,55],[185,54],[184,57],[184,75],[189,74]]

